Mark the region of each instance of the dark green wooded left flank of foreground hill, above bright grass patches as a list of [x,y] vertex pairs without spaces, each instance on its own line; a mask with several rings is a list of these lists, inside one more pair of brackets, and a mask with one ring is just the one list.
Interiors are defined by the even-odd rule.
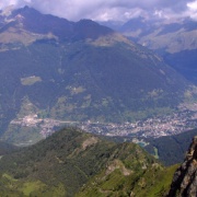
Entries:
[[73,129],[61,130],[47,140],[2,158],[0,172],[10,173],[16,179],[39,179],[50,187],[62,183],[72,196],[104,166],[112,151],[113,143],[101,141],[83,152],[82,142],[89,137],[91,135]]

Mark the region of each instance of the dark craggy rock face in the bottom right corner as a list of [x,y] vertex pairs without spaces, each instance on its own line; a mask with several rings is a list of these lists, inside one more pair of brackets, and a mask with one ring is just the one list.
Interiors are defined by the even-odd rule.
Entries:
[[184,163],[176,170],[167,197],[197,196],[197,136],[189,147]]

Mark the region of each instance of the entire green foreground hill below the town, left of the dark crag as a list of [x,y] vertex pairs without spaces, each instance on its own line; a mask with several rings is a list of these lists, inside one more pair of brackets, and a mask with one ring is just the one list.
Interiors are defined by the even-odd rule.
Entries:
[[128,196],[138,194],[139,186],[152,194],[154,188],[166,190],[172,175],[137,144],[117,144],[76,129],[5,155],[0,166],[0,189],[21,196],[73,196],[88,182],[80,195]]

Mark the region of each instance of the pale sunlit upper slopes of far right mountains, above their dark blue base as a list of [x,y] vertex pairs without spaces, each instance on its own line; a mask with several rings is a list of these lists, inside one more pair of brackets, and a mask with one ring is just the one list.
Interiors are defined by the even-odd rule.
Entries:
[[189,19],[165,24],[138,18],[125,23],[119,31],[154,50],[175,54],[197,48],[197,22]]

